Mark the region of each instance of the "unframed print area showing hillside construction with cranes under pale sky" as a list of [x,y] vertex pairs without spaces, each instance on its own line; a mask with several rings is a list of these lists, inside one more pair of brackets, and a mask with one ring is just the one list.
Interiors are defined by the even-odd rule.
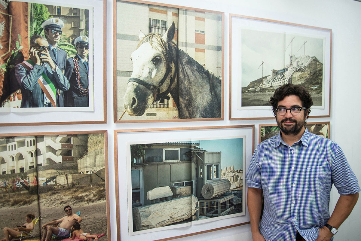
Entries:
[[274,90],[287,83],[304,86],[313,98],[313,108],[323,108],[325,38],[255,29],[239,31],[242,35],[239,110],[269,106]]

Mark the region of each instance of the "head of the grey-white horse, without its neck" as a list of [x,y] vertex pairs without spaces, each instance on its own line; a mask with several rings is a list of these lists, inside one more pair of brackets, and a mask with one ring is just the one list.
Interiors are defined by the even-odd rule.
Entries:
[[175,69],[175,57],[170,49],[174,33],[174,22],[163,36],[144,35],[140,31],[140,43],[130,57],[133,72],[124,95],[124,107],[129,115],[143,115],[149,105],[168,94]]

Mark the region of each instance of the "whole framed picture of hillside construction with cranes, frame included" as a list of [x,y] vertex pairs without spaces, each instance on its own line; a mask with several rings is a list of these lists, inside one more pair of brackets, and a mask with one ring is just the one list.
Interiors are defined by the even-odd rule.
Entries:
[[305,87],[312,117],[330,117],[331,29],[230,14],[229,119],[273,119],[269,99]]

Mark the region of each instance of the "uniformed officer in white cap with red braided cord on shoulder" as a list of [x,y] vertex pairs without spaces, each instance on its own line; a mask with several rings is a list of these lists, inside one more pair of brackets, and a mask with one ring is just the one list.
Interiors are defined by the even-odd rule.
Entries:
[[66,60],[65,76],[69,79],[70,88],[65,93],[66,106],[87,107],[89,106],[89,39],[87,36],[79,36],[74,40],[77,55]]

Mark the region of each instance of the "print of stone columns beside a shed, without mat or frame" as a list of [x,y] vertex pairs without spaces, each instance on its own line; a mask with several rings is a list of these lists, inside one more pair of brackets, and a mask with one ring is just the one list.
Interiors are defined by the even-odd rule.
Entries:
[[245,136],[129,149],[129,235],[244,215]]

